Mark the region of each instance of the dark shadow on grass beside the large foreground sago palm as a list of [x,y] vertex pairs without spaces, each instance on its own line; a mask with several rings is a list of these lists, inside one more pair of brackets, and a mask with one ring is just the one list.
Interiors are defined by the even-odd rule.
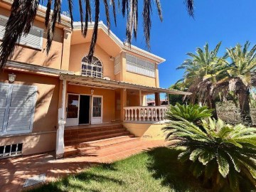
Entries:
[[177,157],[180,152],[167,147],[147,151],[149,155],[147,168],[152,176],[161,179],[162,186],[168,186],[176,191],[210,191],[203,188],[201,181],[188,171],[189,164],[181,164],[178,161]]

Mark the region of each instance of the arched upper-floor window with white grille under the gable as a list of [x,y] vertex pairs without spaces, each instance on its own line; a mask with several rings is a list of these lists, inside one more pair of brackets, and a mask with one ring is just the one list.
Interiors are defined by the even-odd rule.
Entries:
[[100,60],[93,56],[90,62],[88,55],[82,58],[82,75],[92,78],[103,78],[103,68]]

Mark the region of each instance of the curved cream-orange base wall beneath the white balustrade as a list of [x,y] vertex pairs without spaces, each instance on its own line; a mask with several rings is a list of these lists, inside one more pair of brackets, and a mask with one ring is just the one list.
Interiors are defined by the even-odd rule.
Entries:
[[123,123],[124,127],[134,134],[136,137],[142,137],[145,140],[164,140],[165,134],[163,127],[166,124],[138,124],[138,123]]

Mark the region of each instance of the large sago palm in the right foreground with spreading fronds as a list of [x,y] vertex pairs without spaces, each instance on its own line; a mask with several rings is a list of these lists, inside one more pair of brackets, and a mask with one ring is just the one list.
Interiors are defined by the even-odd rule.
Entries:
[[190,163],[193,175],[214,191],[242,191],[247,182],[255,189],[256,128],[209,118],[203,120],[204,131],[186,119],[171,121],[164,129],[166,139],[174,140],[171,146],[185,148],[178,159]]

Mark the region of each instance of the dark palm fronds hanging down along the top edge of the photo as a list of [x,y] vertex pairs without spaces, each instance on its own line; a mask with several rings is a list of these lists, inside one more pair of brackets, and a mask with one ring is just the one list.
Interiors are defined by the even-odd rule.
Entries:
[[[73,0],[68,1],[68,8],[71,18],[71,28],[73,28]],[[110,0],[110,5],[112,6],[114,23],[117,25],[116,21],[116,4],[118,7],[122,7],[122,16],[127,15],[127,43],[130,45],[132,42],[132,36],[137,37],[137,24],[138,24],[138,1],[139,0]],[[143,23],[144,23],[144,36],[146,40],[146,45],[150,48],[150,29],[151,29],[151,12],[152,4],[155,2],[156,8],[158,10],[159,18],[162,21],[161,4],[160,0],[144,0],[143,4]],[[62,0],[47,0],[47,11],[45,26],[47,28],[47,53],[50,50],[51,43],[53,41],[53,35],[55,32],[55,24],[60,23],[60,11],[62,6]],[[184,0],[188,14],[193,16],[193,0]],[[36,17],[36,11],[38,10],[38,5],[43,3],[43,0],[14,0],[11,6],[11,15],[6,23],[6,31],[4,33],[4,38],[0,46],[0,68],[4,68],[4,65],[9,57],[12,57],[15,49],[16,42],[18,42],[24,33],[26,36],[33,25],[33,21]],[[92,21],[92,13],[94,13],[94,30],[92,33],[92,41],[90,45],[90,58],[95,50],[95,45],[97,41],[97,28],[100,17],[100,4],[104,4],[105,16],[107,18],[107,27],[110,30],[110,7],[107,0],[78,0],[80,7],[80,21],[82,35],[87,35],[88,21]],[[53,13],[50,13],[50,9],[53,7]],[[85,18],[84,18],[85,15]],[[83,22],[85,21],[85,22]]]

